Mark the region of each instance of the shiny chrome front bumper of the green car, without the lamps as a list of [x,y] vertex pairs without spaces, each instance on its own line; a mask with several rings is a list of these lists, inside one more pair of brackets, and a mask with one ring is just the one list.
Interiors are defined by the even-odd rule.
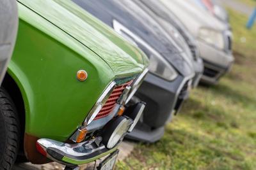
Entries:
[[38,139],[36,148],[40,153],[55,162],[66,166],[74,166],[100,159],[117,149],[117,146],[109,150],[103,144],[99,145],[100,139],[102,138],[99,137],[76,144],[61,143],[52,139]]

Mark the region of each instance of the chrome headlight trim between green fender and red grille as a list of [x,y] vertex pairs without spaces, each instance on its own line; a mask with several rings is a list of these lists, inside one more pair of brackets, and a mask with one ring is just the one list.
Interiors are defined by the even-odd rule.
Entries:
[[92,110],[90,111],[90,113],[88,114],[88,116],[86,117],[86,119],[84,120],[84,126],[89,125],[90,123],[92,123],[93,119],[98,115],[99,111],[101,110],[101,108],[104,106],[104,104],[106,103],[106,101],[108,100],[108,97],[111,95],[111,93],[113,92],[114,88],[115,88],[116,82],[112,81],[108,87],[106,88],[106,90],[104,90],[104,92],[100,95],[99,99],[97,100],[97,102],[94,104]]

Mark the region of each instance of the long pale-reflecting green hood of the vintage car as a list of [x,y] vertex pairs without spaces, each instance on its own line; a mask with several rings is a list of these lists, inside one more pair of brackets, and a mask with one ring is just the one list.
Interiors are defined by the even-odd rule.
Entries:
[[121,38],[70,0],[18,0],[102,58],[116,76],[140,73],[148,66],[141,50]]

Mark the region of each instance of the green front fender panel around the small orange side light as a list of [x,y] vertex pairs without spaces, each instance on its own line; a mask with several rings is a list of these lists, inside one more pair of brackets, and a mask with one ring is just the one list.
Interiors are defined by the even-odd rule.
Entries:
[[[25,132],[65,141],[82,124],[115,74],[104,60],[58,27],[29,10],[20,12],[24,13],[20,14],[8,73],[24,99]],[[29,22],[26,15],[30,15]],[[80,69],[88,73],[86,81],[77,80]]]

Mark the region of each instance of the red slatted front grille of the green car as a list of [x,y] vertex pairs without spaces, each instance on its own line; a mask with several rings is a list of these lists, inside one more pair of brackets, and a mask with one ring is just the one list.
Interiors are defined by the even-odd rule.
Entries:
[[106,101],[102,109],[99,111],[98,115],[94,118],[94,120],[107,117],[111,113],[111,111],[113,111],[116,105],[116,101],[124,92],[125,87],[127,87],[127,85],[131,85],[132,81],[133,80],[115,87],[112,94],[109,96],[108,100]]

